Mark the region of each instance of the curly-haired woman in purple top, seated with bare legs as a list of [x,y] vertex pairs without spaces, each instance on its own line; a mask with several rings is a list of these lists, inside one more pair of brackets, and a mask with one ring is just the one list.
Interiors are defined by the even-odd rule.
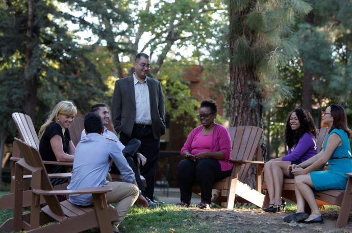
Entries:
[[317,154],[315,136],[315,125],[309,111],[296,108],[290,112],[285,132],[288,153],[264,165],[264,181],[270,199],[270,205],[264,208],[264,211],[274,213],[285,208],[285,202],[281,199],[284,176],[293,178],[287,167],[306,161]]

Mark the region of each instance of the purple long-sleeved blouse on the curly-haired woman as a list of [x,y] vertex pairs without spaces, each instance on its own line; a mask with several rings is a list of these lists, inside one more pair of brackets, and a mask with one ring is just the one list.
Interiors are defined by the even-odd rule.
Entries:
[[314,136],[311,133],[304,133],[298,140],[297,144],[288,149],[287,155],[281,159],[283,161],[304,162],[317,154],[317,147]]

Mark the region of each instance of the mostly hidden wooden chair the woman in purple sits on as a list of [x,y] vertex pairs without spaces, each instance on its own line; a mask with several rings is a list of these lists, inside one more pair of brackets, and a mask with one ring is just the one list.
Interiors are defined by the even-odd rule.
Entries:
[[[320,152],[325,141],[325,137],[328,135],[328,127],[324,127],[317,130],[317,136],[315,138],[317,152]],[[263,189],[266,190],[265,182],[263,182]],[[286,200],[296,202],[296,195],[294,193],[294,179],[293,178],[285,178],[283,189],[282,189],[282,197]],[[323,202],[317,201],[318,205],[324,205]],[[265,199],[264,199],[264,207],[269,205],[269,195],[268,192],[265,192]]]

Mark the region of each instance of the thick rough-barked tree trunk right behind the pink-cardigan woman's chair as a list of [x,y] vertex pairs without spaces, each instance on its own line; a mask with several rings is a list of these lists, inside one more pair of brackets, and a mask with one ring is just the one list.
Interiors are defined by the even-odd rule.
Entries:
[[[239,36],[250,38],[250,43],[256,43],[256,37],[249,37],[247,34],[248,28],[243,23],[245,17],[256,1],[252,0],[248,6],[242,9],[241,12],[236,12],[235,1],[230,1],[230,116],[231,126],[250,125],[262,128],[263,118],[263,95],[261,90],[258,90],[257,84],[260,79],[255,71],[254,65],[237,64],[233,56],[240,51],[236,51],[236,41]],[[263,143],[263,151],[266,148]],[[250,187],[256,186],[256,167],[251,166],[248,172],[248,177],[245,183]]]

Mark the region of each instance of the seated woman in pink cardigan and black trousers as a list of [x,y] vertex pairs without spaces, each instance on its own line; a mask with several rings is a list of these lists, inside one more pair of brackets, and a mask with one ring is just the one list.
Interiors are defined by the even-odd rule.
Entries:
[[200,209],[211,206],[211,192],[214,182],[231,175],[233,164],[228,160],[231,155],[231,138],[228,130],[215,123],[217,106],[213,100],[204,100],[198,110],[202,125],[188,135],[178,165],[178,179],[181,192],[181,203],[188,207],[192,196],[192,185],[198,183],[202,189]]

